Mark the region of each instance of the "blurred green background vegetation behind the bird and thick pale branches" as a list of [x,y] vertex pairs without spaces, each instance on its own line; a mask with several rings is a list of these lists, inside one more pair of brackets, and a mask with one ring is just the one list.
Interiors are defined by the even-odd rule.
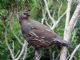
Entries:
[[[0,60],[12,60],[10,51],[7,46],[5,31],[7,31],[7,41],[8,44],[13,49],[15,57],[18,56],[20,50],[22,49],[21,43],[24,42],[24,38],[21,33],[18,14],[27,9],[30,10],[30,17],[39,22],[42,21],[43,11],[45,10],[45,3],[43,0],[0,0]],[[76,3],[72,4],[71,15],[76,8]],[[61,7],[61,8],[60,8]],[[66,0],[49,0],[49,10],[56,20],[58,17],[65,12],[67,8]],[[60,11],[59,11],[60,9]],[[51,25],[51,21],[48,17],[48,13],[45,13],[48,23]],[[44,24],[46,24],[44,22]],[[61,19],[58,27],[54,31],[63,37],[64,33],[65,16]],[[6,29],[5,29],[6,27]],[[20,41],[20,42],[19,42]],[[72,32],[71,44],[69,47],[68,55],[71,54],[73,49],[80,43],[80,20]],[[52,52],[54,54],[54,59],[59,60],[61,47],[58,45],[53,45],[51,49],[44,49],[43,56],[41,60],[51,60]],[[33,60],[35,49],[32,46],[28,46],[27,55],[25,60]],[[80,49],[77,51],[73,58],[74,60],[80,60]]]

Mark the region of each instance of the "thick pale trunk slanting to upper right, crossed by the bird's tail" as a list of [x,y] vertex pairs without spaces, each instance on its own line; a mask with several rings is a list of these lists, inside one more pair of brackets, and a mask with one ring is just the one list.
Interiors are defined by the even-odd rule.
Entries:
[[[64,31],[64,40],[70,41],[71,33],[72,33],[77,21],[79,20],[78,19],[79,14],[80,14],[80,3],[77,5],[70,22],[67,24],[67,21],[66,21],[66,26],[65,26],[65,31]],[[67,51],[68,51],[67,47],[62,47],[60,60],[66,60]]]

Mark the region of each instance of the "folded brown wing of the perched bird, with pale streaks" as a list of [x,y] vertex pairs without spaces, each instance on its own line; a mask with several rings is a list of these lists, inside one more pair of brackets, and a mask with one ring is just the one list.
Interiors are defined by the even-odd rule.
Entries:
[[50,29],[44,28],[42,26],[34,26],[30,30],[30,34],[32,34],[35,38],[38,38],[39,41],[48,44],[52,44],[54,39],[57,37]]

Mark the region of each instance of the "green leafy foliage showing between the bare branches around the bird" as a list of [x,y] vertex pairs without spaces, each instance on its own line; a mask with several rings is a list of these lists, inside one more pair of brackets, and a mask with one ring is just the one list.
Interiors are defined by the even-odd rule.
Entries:
[[[55,11],[55,15],[53,16],[56,20],[58,17],[66,10],[66,1],[62,0],[63,5],[61,7],[60,13],[58,14],[58,10],[60,7],[60,3],[57,0],[49,0],[49,9],[50,13],[53,14],[53,11]],[[41,21],[42,19],[42,9],[44,9],[44,2],[43,0],[0,0],[0,16],[6,17],[6,27],[8,31],[8,43],[12,46],[14,44],[14,54],[17,53],[19,49],[21,49],[21,45],[17,41],[16,37],[14,36],[13,32],[10,28],[10,21],[12,21],[12,18],[9,18],[9,14],[12,12],[13,15],[15,15],[14,11],[20,12],[24,9],[30,10],[31,18],[36,19],[37,21]],[[74,8],[73,8],[74,9]],[[73,11],[71,11],[73,13]],[[46,13],[46,16],[48,14]],[[3,27],[3,21],[0,17],[0,60],[11,60],[10,52],[6,46],[5,38],[4,38],[4,27]],[[12,16],[14,17],[14,16]],[[9,18],[9,19],[8,19]],[[51,21],[49,22],[51,23]],[[61,23],[59,26],[54,30],[56,33],[58,33],[60,36],[63,37],[64,33],[64,24],[65,24],[65,17],[61,20]],[[70,52],[73,51],[74,47],[76,47],[77,44],[80,43],[80,21],[78,22],[76,26],[76,31],[73,33],[73,38],[71,41],[71,47],[69,48]],[[13,31],[17,35],[18,38],[23,42],[23,37],[20,30],[20,25],[17,18],[13,19]],[[13,43],[14,42],[14,43]],[[55,58],[60,53],[61,47],[58,45],[54,45],[51,50],[45,49],[43,56],[41,60],[49,60],[51,59],[52,51],[56,51]],[[33,60],[34,57],[34,51],[35,49],[32,46],[28,47],[28,55],[26,57],[26,60]],[[50,54],[49,54],[50,53]],[[76,53],[76,59],[80,60],[80,50]],[[47,58],[47,59],[46,59]]]

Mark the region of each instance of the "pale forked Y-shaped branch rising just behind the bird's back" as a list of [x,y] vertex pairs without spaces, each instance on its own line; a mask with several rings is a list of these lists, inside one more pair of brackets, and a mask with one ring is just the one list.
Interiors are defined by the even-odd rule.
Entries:
[[[58,21],[55,21],[55,19],[54,19],[54,18],[51,16],[51,14],[50,14],[47,0],[44,0],[44,3],[45,3],[45,9],[46,9],[46,11],[47,11],[47,13],[48,13],[49,18],[50,18],[51,21],[52,21],[53,26],[51,27],[51,26],[47,23],[47,21],[46,21],[46,24],[47,24],[52,30],[54,30],[54,28],[58,26],[58,23],[60,22],[61,18],[65,15],[65,13],[63,13],[60,17],[58,16],[58,17],[59,17],[59,18],[58,18]],[[60,13],[61,7],[62,7],[62,1],[60,1],[60,8],[59,8],[59,11],[58,11],[58,15],[59,15],[59,13]],[[54,10],[54,11],[55,11],[55,10]],[[55,12],[54,12],[54,14],[55,14]]]

